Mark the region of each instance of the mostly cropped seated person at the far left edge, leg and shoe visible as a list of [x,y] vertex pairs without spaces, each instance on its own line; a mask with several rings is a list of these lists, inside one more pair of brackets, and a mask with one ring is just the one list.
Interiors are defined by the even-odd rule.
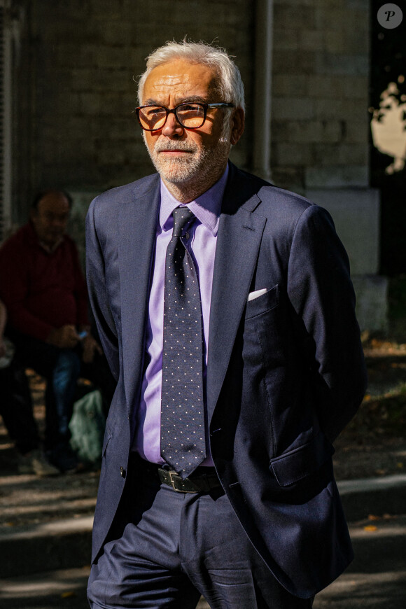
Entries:
[[57,475],[59,470],[46,461],[39,449],[27,376],[7,349],[5,327],[6,307],[0,300],[0,415],[20,456],[18,470],[38,476]]

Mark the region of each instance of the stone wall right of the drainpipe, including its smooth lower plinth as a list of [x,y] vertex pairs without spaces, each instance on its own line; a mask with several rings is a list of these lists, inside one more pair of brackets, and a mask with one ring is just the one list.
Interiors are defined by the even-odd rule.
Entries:
[[369,188],[370,2],[274,0],[272,179],[335,221],[363,330],[387,327],[379,191]]

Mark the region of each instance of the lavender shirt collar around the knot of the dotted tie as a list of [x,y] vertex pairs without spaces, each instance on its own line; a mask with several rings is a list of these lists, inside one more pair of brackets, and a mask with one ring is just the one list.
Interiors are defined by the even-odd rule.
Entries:
[[[193,211],[196,218],[211,232],[214,237],[218,231],[218,221],[221,211],[221,202],[225,191],[225,185],[228,179],[228,165],[221,178],[205,193],[190,201],[186,207]],[[161,179],[161,207],[159,223],[161,230],[169,230],[172,228],[172,211],[176,207],[184,205],[175,199]]]

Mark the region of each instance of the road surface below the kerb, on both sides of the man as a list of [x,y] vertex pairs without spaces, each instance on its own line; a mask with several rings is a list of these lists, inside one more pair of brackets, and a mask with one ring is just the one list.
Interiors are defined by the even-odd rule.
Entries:
[[[359,521],[351,538],[356,559],[314,609],[405,609],[406,516]],[[1,609],[88,609],[88,573],[87,566],[0,580]],[[202,599],[198,609],[209,605]]]

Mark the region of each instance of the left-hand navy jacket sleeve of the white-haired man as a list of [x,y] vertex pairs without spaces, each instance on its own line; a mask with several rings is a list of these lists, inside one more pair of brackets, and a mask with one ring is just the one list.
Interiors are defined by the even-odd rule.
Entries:
[[120,370],[118,353],[118,335],[116,323],[109,304],[106,291],[104,255],[97,234],[96,219],[97,198],[90,204],[86,216],[86,276],[90,305],[96,321],[104,353],[111,368],[113,377],[118,380]]

